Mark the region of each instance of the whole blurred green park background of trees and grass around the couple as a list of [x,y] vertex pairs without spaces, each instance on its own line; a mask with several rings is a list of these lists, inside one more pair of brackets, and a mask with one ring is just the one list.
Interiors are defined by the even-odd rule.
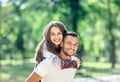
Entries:
[[80,35],[75,78],[120,75],[120,0],[0,0],[0,82],[24,82],[50,21]]

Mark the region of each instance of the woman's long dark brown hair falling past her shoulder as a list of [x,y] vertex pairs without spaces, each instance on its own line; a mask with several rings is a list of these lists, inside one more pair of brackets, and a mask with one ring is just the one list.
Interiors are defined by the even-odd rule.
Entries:
[[50,29],[53,26],[60,29],[60,31],[63,34],[63,37],[67,33],[67,30],[64,24],[60,21],[51,21],[46,26],[44,30],[44,39],[37,45],[37,48],[36,48],[36,53],[35,53],[36,66],[44,59],[44,56],[43,56],[44,44],[46,45],[47,50],[52,52],[55,55],[57,55],[61,50],[60,46],[55,47],[55,45],[50,40]]

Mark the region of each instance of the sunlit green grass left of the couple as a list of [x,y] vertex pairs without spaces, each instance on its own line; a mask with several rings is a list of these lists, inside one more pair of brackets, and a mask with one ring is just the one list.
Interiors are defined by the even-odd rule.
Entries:
[[25,79],[34,67],[34,63],[31,61],[2,61],[2,66],[0,67],[0,82],[25,82]]

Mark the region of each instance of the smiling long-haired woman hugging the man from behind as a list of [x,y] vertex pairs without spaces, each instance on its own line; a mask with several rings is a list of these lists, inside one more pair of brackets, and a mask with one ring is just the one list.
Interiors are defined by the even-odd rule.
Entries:
[[[69,63],[66,61],[61,61],[57,56],[61,51],[60,43],[66,33],[67,30],[64,24],[60,21],[51,21],[47,24],[44,31],[44,39],[38,44],[36,48],[36,66],[45,58],[49,58],[51,61],[53,61],[53,64],[58,67],[59,65],[61,66],[62,63]],[[75,57],[73,57],[73,59],[74,58]],[[76,60],[79,67],[80,61],[78,59]]]

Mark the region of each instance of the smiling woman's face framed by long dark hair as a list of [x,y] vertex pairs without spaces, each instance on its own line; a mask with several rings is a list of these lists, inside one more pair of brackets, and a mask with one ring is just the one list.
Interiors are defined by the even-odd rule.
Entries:
[[63,34],[58,27],[53,26],[50,29],[50,40],[55,46],[60,45],[63,39]]

